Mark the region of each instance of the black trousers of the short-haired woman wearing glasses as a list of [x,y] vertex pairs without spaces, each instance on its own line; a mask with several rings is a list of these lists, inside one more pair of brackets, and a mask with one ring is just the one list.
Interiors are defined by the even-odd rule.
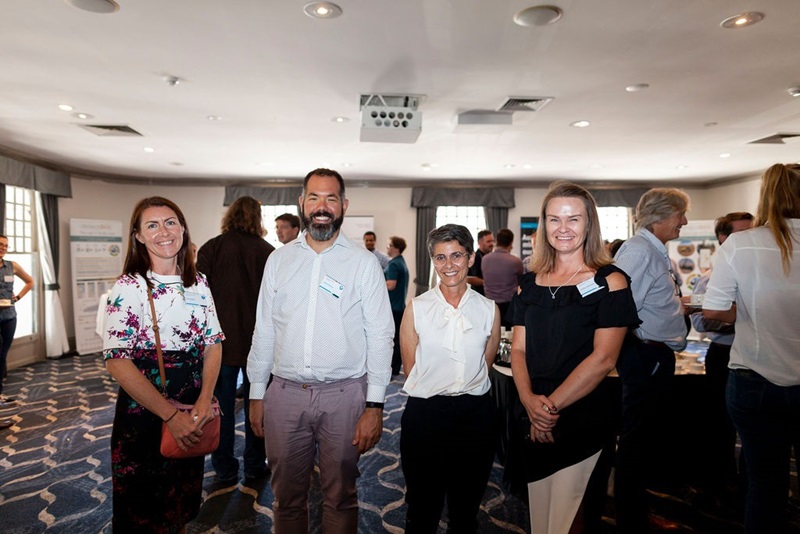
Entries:
[[400,428],[406,534],[435,534],[445,499],[447,531],[476,532],[499,441],[490,395],[409,397]]

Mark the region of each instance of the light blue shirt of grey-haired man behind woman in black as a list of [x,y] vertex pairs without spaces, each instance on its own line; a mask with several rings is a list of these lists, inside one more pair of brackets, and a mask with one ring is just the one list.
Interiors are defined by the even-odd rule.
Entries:
[[670,273],[667,247],[646,228],[622,244],[614,258],[631,277],[631,291],[642,324],[639,339],[661,341],[672,350],[686,348],[686,320],[677,285]]

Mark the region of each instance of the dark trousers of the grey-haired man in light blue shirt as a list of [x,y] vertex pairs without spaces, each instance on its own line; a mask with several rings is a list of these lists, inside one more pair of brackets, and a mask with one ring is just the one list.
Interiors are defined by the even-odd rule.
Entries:
[[[614,495],[621,533],[648,530],[646,488],[659,475],[671,450],[674,428],[668,424],[675,353],[628,334],[617,362],[622,383],[622,429],[617,447]],[[659,477],[661,478],[661,477]]]

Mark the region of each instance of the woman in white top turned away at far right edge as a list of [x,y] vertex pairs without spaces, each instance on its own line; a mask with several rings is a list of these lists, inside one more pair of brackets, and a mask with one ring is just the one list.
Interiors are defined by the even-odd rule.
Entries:
[[717,252],[703,301],[708,319],[736,321],[727,403],[742,440],[746,532],[788,531],[789,446],[800,448],[800,165],[761,179],[752,230]]

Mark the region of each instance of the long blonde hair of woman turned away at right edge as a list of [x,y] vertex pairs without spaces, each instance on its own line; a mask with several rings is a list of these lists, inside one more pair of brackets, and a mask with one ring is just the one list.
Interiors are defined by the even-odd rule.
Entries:
[[783,273],[792,268],[792,230],[786,219],[800,219],[800,164],[776,163],[761,177],[761,195],[753,226],[768,226],[781,251]]

